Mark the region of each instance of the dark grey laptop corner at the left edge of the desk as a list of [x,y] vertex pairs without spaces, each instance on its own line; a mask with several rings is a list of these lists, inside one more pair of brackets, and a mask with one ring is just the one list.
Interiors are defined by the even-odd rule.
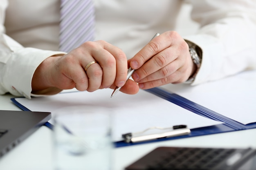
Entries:
[[50,118],[48,112],[0,110],[0,158]]

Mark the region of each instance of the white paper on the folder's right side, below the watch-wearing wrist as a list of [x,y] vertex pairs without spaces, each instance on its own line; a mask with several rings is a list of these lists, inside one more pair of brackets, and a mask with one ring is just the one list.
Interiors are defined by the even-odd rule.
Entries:
[[256,122],[256,71],[197,86],[168,84],[162,88],[242,124]]

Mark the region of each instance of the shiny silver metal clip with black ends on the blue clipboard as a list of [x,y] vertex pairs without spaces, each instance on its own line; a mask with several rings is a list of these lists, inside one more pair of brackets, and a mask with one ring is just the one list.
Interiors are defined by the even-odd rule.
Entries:
[[[144,135],[144,133],[148,132],[149,130],[161,130],[164,132],[151,133],[151,134]],[[171,128],[151,127],[141,132],[123,134],[122,137],[126,143],[136,143],[136,142],[142,142],[142,141],[155,140],[159,138],[189,135],[190,133],[191,131],[189,128],[187,128],[186,125],[177,125]]]

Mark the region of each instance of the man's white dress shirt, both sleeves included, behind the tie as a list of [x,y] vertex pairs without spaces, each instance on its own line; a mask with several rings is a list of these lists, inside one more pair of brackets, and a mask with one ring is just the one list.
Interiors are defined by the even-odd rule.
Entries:
[[[0,2],[0,94],[30,98],[37,66],[45,58],[62,53],[58,51],[60,2]],[[94,0],[96,40],[118,46],[130,58],[155,33],[176,30],[183,2]],[[191,5],[191,17],[200,29],[182,36],[198,44],[203,52],[194,85],[256,68],[255,0],[192,0]]]

